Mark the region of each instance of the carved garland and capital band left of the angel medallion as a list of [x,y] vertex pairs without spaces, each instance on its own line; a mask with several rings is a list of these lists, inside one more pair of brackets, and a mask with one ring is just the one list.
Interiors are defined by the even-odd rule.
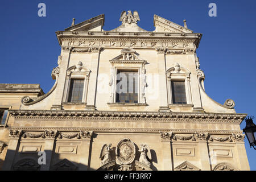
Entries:
[[28,132],[23,130],[10,130],[10,137],[11,138],[52,138],[52,139],[90,139],[93,135],[93,131],[80,131],[78,133],[69,133],[69,132],[62,132],[62,131],[52,131],[52,130],[45,130],[43,132]]

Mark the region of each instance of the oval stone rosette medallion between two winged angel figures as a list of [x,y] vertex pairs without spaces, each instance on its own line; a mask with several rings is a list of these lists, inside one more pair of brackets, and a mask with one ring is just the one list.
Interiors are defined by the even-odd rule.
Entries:
[[115,150],[117,162],[119,164],[131,164],[135,159],[135,145],[130,139],[124,138],[118,144]]

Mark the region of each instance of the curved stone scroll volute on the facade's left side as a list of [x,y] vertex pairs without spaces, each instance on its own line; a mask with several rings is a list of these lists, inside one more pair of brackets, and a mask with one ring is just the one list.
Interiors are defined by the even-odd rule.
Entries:
[[32,98],[30,98],[29,96],[24,96],[21,99],[21,102],[23,105],[28,106],[28,105],[33,105],[36,104],[37,102],[42,101],[44,98],[48,97],[53,90],[55,90],[56,86],[57,86],[57,82],[58,82],[58,78],[59,78],[59,73],[60,73],[60,68],[53,68],[52,70],[52,79],[56,80],[55,84],[52,86],[51,90],[49,90],[48,93],[44,94],[43,96],[38,97],[36,100],[32,100]]

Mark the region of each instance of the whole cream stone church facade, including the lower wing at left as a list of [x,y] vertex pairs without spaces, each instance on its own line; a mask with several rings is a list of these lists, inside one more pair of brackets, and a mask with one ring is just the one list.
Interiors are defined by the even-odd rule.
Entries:
[[[56,36],[55,84],[0,84],[2,170],[250,170],[234,101],[204,91],[202,34],[137,11]],[[39,159],[40,158],[40,159]],[[42,163],[40,163],[42,162]]]

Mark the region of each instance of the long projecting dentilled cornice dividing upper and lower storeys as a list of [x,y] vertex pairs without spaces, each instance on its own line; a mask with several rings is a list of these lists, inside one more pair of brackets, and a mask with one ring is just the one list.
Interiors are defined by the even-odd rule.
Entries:
[[163,113],[154,111],[77,111],[77,110],[9,110],[16,119],[61,119],[85,121],[138,122],[220,122],[241,123],[246,114]]

